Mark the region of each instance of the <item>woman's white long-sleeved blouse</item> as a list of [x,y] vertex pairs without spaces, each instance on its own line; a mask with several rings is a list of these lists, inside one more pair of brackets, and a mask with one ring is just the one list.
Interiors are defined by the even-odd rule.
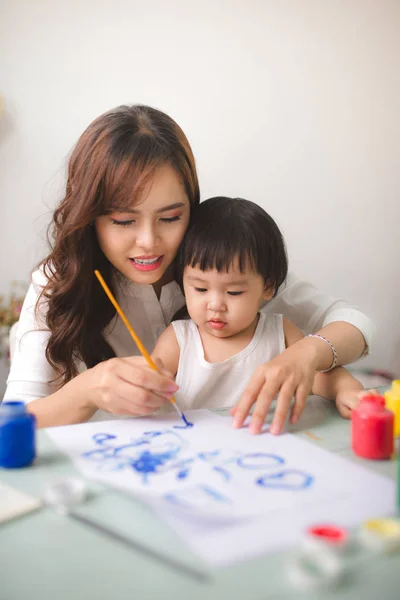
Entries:
[[[59,387],[52,383],[56,373],[45,356],[50,331],[44,323],[43,316],[35,315],[36,302],[45,282],[45,275],[41,270],[33,273],[32,284],[18,322],[5,400],[30,402],[52,394]],[[149,352],[153,351],[158,337],[169,325],[176,311],[185,303],[175,281],[162,288],[159,300],[151,285],[135,284],[128,280],[118,287],[116,296]],[[317,331],[333,321],[346,321],[357,327],[367,346],[371,346],[374,326],[368,317],[343,300],[323,294],[310,283],[300,281],[292,274],[289,274],[278,294],[262,310],[282,313],[304,333]],[[116,356],[139,354],[125,325],[117,315],[107,326],[104,335]],[[85,365],[82,364],[80,370],[84,369]]]

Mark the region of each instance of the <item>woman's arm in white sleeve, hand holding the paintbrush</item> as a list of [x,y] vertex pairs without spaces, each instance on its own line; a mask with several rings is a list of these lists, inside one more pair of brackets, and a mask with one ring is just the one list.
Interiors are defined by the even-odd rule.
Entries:
[[41,314],[35,311],[39,293],[34,281],[21,311],[4,397],[29,403],[39,427],[81,423],[98,409],[114,415],[150,414],[176,392],[170,376],[154,371],[138,356],[104,361],[60,387],[45,355],[50,335],[45,305]]

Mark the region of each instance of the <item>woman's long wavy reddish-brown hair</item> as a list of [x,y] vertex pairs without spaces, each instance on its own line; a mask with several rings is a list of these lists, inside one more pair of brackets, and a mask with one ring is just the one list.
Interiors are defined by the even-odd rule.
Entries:
[[165,164],[176,170],[194,207],[199,185],[185,134],[171,117],[142,105],[101,115],[72,151],[65,197],[49,228],[51,252],[40,264],[47,284],[36,307],[39,312],[42,301],[47,305],[46,358],[62,383],[77,375],[80,361],[90,368],[115,356],[103,335],[115,309],[93,274],[99,269],[113,288],[114,267],[93,222],[115,207],[132,206]]

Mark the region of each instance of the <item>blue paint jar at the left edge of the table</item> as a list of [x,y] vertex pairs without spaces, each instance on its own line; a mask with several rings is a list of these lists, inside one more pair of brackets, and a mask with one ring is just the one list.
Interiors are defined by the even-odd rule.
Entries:
[[36,456],[36,419],[24,402],[0,404],[0,467],[18,469]]

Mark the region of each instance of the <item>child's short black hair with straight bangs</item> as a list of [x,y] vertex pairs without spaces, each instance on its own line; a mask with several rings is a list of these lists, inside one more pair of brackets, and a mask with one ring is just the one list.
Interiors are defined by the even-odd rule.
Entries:
[[264,278],[274,295],[285,281],[288,261],[279,227],[260,206],[243,198],[217,196],[195,207],[178,255],[186,266],[227,271],[237,259]]

